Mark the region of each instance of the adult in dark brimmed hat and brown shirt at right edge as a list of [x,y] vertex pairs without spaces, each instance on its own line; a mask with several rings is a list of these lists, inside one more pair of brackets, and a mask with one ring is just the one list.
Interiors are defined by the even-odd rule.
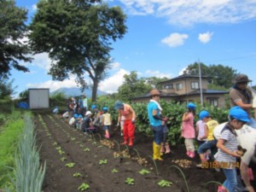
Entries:
[[[256,128],[256,120],[251,115],[251,109],[256,108],[256,98],[253,98],[252,91],[247,88],[248,82],[247,75],[239,74],[234,80],[234,85],[230,90],[230,107],[239,106],[243,108],[249,115],[250,121],[247,125]],[[254,114],[256,116],[256,114]]]

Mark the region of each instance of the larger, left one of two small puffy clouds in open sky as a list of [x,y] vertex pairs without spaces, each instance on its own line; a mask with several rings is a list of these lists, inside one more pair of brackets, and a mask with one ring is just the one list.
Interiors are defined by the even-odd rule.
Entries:
[[170,47],[177,47],[184,44],[185,39],[189,38],[187,34],[172,33],[167,38],[163,38],[161,43],[167,44]]

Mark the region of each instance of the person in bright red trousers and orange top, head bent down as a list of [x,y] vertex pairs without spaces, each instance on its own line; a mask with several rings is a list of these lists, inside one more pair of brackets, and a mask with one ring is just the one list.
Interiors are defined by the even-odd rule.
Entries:
[[114,103],[114,109],[119,110],[118,125],[121,119],[124,122],[123,135],[125,142],[122,144],[126,145],[129,140],[128,145],[131,147],[134,140],[136,113],[130,105],[120,101]]

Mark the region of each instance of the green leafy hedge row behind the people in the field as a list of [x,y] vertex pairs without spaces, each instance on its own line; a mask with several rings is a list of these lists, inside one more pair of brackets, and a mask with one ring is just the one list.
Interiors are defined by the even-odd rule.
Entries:
[[[109,113],[113,116],[113,124],[116,124],[118,113],[114,107],[113,99],[99,99],[96,104],[99,110],[101,110],[104,106],[108,107]],[[92,104],[92,103],[91,103]],[[166,102],[164,100],[160,100],[160,105],[163,108],[163,115],[168,117],[167,127],[168,131],[168,140],[171,145],[176,145],[178,143],[183,143],[183,138],[181,135],[181,123],[183,113],[186,111],[186,105],[184,103],[179,102]],[[134,108],[137,113],[137,122],[136,127],[137,131],[143,132],[147,136],[152,136],[152,131],[150,130],[148,123],[148,102],[137,102],[131,103],[132,108]],[[202,107],[201,104],[196,103],[196,114],[195,114],[195,122],[199,119],[198,114],[201,110],[207,110],[212,116],[212,119],[218,120],[219,123],[227,121],[228,119],[228,110],[224,108],[216,108],[210,105]]]

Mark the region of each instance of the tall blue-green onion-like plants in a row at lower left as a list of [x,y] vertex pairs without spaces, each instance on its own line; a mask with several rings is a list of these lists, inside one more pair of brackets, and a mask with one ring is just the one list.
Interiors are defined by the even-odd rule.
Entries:
[[41,192],[46,164],[40,165],[39,152],[36,147],[34,124],[31,116],[25,115],[24,131],[18,143],[15,154],[15,177],[12,183],[15,189],[9,187],[6,191]]

